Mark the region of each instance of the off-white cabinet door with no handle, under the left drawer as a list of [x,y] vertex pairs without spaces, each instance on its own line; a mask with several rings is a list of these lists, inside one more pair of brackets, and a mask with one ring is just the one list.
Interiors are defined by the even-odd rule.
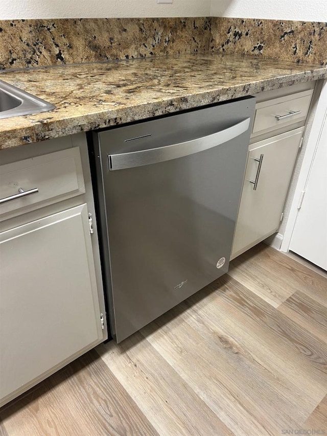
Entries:
[[0,233],[0,263],[6,398],[102,340],[86,204]]

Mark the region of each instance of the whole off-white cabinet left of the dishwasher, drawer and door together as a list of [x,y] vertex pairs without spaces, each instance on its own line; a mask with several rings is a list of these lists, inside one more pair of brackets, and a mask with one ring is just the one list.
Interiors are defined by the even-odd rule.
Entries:
[[86,137],[49,143],[2,152],[0,406],[107,338]]

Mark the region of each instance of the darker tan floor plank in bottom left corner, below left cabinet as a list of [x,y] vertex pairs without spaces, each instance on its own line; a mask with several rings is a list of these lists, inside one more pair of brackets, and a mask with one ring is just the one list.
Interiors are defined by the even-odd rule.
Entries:
[[4,406],[3,433],[44,435],[157,435],[107,365],[91,350]]

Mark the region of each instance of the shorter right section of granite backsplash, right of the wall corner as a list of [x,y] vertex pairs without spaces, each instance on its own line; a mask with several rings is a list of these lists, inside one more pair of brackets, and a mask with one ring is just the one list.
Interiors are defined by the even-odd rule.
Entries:
[[327,22],[212,17],[213,51],[327,64]]

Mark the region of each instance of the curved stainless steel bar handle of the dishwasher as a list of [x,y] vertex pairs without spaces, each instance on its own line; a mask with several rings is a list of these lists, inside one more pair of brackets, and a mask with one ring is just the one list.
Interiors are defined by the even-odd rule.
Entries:
[[250,118],[246,118],[227,129],[179,144],[149,150],[132,151],[130,153],[108,154],[109,170],[123,170],[125,168],[157,164],[165,162],[165,160],[177,159],[178,157],[188,156],[216,147],[246,132],[249,128],[250,120]]

